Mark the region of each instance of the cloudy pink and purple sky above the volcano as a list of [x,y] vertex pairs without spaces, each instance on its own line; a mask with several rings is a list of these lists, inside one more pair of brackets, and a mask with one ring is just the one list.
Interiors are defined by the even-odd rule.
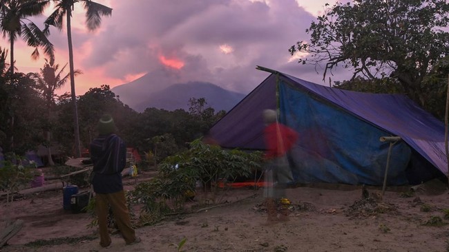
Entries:
[[[338,0],[343,1],[343,0]],[[325,3],[336,0],[95,0],[113,8],[111,17],[102,17],[101,26],[89,32],[81,3],[75,4],[72,36],[75,69],[75,94],[90,87],[115,87],[144,74],[164,72],[175,83],[210,82],[227,90],[247,94],[269,73],[256,70],[268,67],[314,83],[323,81],[323,69],[298,63],[298,55],[288,49],[297,41],[307,41],[305,32]],[[51,8],[32,19],[44,28]],[[50,28],[55,46],[55,61],[68,64],[66,29]],[[7,39],[0,46],[9,48]],[[21,39],[15,43],[19,72],[39,72],[44,54],[37,61]],[[9,58],[8,58],[9,59]],[[68,65],[66,73],[68,73]],[[343,81],[350,74],[338,71],[332,81]],[[167,83],[161,83],[165,85]],[[173,84],[173,83],[170,83]],[[57,94],[70,92],[70,82]]]

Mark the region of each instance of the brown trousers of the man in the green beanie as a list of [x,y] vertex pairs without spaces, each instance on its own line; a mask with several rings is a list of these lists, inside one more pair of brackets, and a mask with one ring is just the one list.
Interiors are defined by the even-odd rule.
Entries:
[[111,236],[108,231],[108,211],[109,206],[114,214],[115,223],[122,233],[126,244],[135,241],[135,231],[131,227],[131,219],[129,218],[128,207],[126,207],[126,199],[124,191],[116,193],[96,193],[95,206],[97,208],[98,228],[99,228],[99,244],[101,246],[109,246],[111,244]]

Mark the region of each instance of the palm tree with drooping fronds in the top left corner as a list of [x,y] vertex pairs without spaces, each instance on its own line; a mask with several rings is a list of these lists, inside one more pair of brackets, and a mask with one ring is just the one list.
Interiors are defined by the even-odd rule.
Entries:
[[[14,74],[14,42],[22,36],[29,46],[35,48],[32,59],[39,59],[39,50],[43,47],[45,54],[54,60],[54,48],[48,40],[48,33],[42,31],[28,17],[37,16],[48,6],[47,0],[0,0],[0,29],[3,38],[10,41],[10,72]],[[29,23],[25,23],[28,21]]]

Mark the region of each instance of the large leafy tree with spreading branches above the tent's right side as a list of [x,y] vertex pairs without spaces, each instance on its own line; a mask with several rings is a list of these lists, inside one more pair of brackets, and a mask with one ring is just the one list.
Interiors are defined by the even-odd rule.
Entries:
[[[328,6],[328,5],[327,5]],[[426,107],[434,87],[425,80],[449,52],[449,3],[441,0],[354,0],[327,8],[289,52],[305,52],[332,73],[338,65],[370,80],[388,76],[414,101]],[[447,72],[446,72],[447,75]]]

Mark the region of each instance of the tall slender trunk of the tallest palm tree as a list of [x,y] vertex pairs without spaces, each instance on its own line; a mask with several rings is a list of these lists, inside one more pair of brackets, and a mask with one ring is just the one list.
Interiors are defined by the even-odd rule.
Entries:
[[67,40],[68,40],[68,61],[70,66],[70,88],[72,94],[73,103],[73,128],[75,130],[75,158],[81,157],[81,145],[79,143],[79,125],[78,125],[78,109],[77,109],[77,96],[75,95],[75,70],[73,67],[73,45],[72,45],[72,32],[70,28],[70,17],[72,11],[67,9]]

